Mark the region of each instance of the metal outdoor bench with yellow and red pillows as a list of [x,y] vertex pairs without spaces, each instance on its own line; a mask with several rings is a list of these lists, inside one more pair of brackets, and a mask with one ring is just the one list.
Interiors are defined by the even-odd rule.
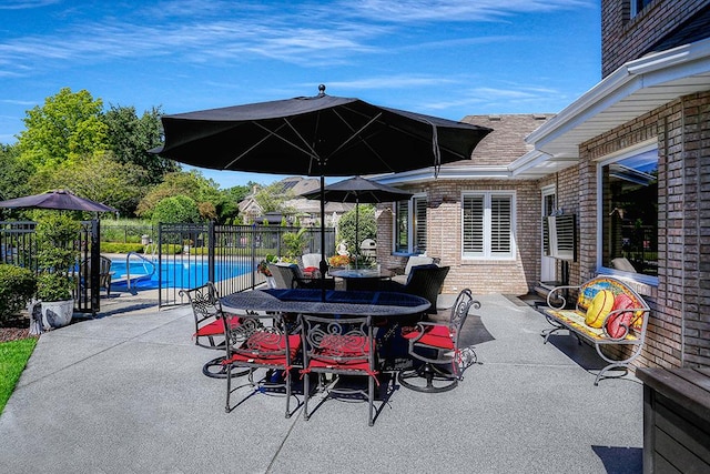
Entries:
[[[568,295],[574,290],[577,290],[577,302],[574,309],[567,309]],[[599,294],[602,291],[604,294]],[[584,339],[592,344],[599,356],[608,363],[597,374],[595,385],[599,384],[607,371],[623,369],[626,374],[629,364],[641,353],[650,309],[621,280],[597,276],[579,286],[556,286],[547,295],[547,305],[549,307],[541,312],[554,327],[542,331],[545,344],[557,331],[568,330],[579,343]],[[592,325],[588,324],[590,321]],[[612,344],[631,346],[630,355],[622,360],[610,359],[601,349]]]

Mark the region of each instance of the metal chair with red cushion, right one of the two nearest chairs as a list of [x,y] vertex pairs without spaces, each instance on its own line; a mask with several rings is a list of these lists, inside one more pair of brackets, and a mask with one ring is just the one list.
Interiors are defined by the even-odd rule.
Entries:
[[[318,387],[324,389],[327,399],[344,401],[367,400],[369,405],[368,425],[374,424],[375,384],[375,344],[371,316],[364,317],[318,317],[301,315],[303,331],[303,417],[308,420],[310,373],[335,374],[336,377],[323,386],[318,377]],[[367,377],[367,391],[364,387],[346,384],[341,375],[362,375]],[[317,410],[317,406],[316,409]],[[315,411],[314,410],[314,411]]]

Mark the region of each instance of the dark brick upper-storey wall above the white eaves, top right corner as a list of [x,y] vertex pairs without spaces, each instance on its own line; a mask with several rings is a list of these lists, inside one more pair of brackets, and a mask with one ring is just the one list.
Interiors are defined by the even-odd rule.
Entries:
[[709,0],[655,0],[630,18],[629,0],[601,1],[601,77],[649,48],[707,6]]

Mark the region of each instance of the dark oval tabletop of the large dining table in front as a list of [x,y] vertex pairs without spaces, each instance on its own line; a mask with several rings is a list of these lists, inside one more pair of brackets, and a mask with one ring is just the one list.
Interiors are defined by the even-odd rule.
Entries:
[[423,313],[430,306],[426,299],[413,294],[328,290],[323,299],[323,292],[315,289],[253,290],[222,296],[221,302],[227,312],[251,310],[386,319]]

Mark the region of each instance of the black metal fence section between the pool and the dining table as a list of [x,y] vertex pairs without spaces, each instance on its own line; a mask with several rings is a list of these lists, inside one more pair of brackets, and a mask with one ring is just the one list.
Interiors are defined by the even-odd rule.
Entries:
[[[156,260],[159,306],[184,304],[180,290],[212,281],[220,294],[253,289],[265,281],[256,265],[267,254],[283,255],[283,235],[300,228],[261,225],[160,224]],[[321,253],[321,229],[307,228],[304,253]],[[335,250],[335,230],[325,230],[326,253]],[[190,271],[185,272],[185,269]]]

